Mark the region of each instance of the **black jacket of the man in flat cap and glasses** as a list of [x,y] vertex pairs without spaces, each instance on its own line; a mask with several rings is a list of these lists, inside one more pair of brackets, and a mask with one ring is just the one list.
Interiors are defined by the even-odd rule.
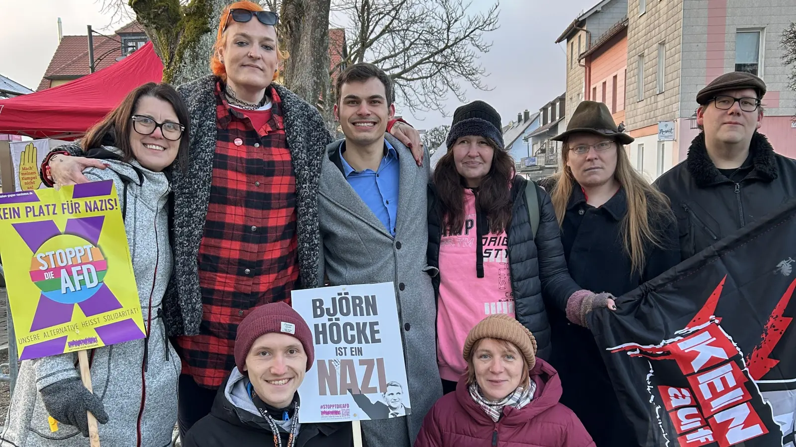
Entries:
[[749,172],[736,183],[716,169],[700,133],[691,142],[688,158],[655,182],[677,215],[682,259],[796,196],[796,160],[776,154],[766,136],[757,132],[749,149]]

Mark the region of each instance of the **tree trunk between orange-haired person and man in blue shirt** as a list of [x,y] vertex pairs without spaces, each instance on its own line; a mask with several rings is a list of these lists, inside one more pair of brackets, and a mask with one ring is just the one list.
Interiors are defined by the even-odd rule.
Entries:
[[284,0],[279,17],[279,44],[290,52],[285,61],[285,87],[313,105],[328,97],[330,3]]

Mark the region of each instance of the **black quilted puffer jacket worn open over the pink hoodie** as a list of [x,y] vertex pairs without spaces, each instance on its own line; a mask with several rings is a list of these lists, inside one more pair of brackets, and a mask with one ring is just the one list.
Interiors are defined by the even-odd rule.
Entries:
[[[572,281],[567,271],[556,212],[552,208],[550,196],[538,186],[540,218],[537,237],[533,238],[528,202],[525,200],[527,184],[525,178],[516,176],[511,186],[512,214],[506,231],[509,238],[509,272],[517,321],[536,338],[537,356],[548,360],[552,345],[545,303],[557,309],[566,309],[567,299],[581,287]],[[442,219],[439,216],[439,200],[434,185],[429,185],[428,194],[428,265],[439,268]],[[476,219],[478,220],[478,216]],[[455,272],[440,271],[434,278],[438,297],[439,278],[444,274]]]

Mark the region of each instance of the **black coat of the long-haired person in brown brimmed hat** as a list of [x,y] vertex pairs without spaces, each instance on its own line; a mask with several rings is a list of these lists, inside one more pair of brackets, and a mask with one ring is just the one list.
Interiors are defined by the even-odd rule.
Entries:
[[[552,183],[543,185],[552,187]],[[624,189],[595,208],[586,203],[580,185],[574,185],[561,227],[561,242],[569,273],[584,289],[619,297],[680,262],[674,216],[657,216],[652,222],[662,247],[650,244],[645,250],[644,269],[631,272],[630,256],[622,243],[626,213]],[[548,316],[556,345],[550,363],[564,388],[560,402],[580,418],[597,447],[638,446],[627,430],[628,422],[591,331],[572,324],[560,309],[548,308]]]

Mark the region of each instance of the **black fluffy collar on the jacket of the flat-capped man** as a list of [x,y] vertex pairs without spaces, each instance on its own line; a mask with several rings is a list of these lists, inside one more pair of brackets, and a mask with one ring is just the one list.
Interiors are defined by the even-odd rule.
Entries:
[[[777,178],[775,152],[766,135],[755,131],[751,138],[749,150],[752,154],[753,169],[747,178],[755,177],[762,181],[775,180]],[[719,169],[716,169],[716,165],[708,157],[708,150],[704,146],[704,132],[696,135],[696,138],[691,142],[686,168],[694,181],[696,181],[696,185],[700,186],[700,188],[727,181],[727,177],[724,177],[719,172]]]

